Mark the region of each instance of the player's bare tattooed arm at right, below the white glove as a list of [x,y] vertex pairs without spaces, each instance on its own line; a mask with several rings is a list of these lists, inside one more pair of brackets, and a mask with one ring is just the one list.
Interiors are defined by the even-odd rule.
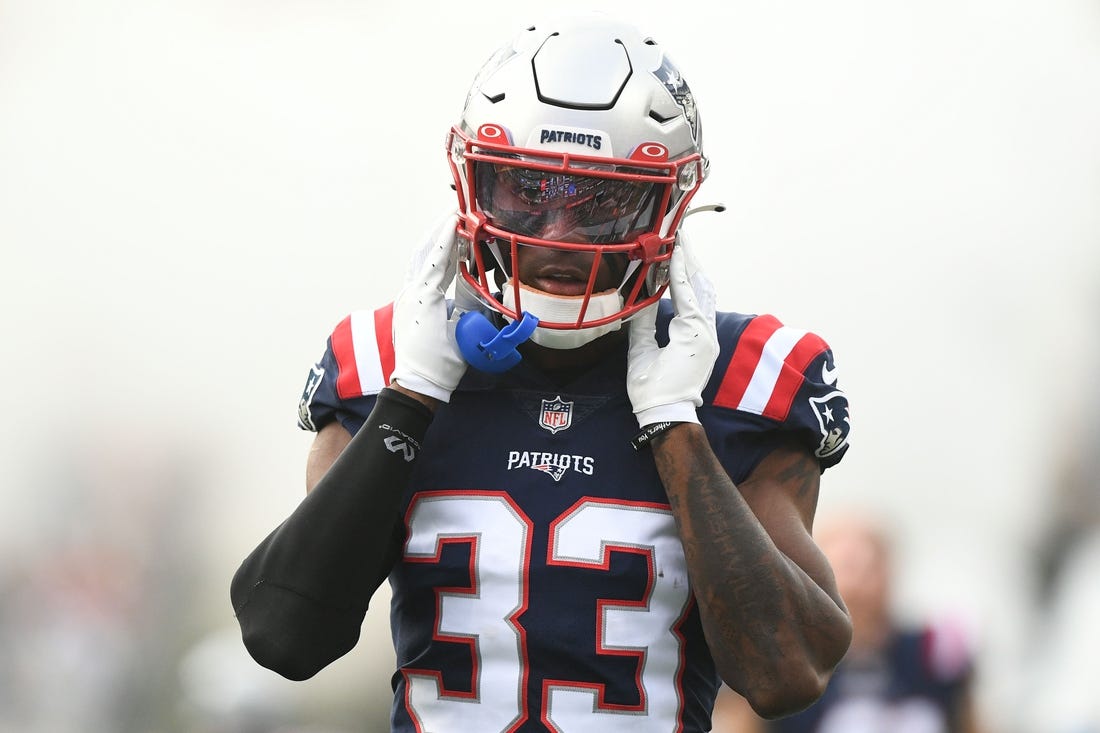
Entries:
[[[777,451],[769,459],[762,471],[768,492],[795,499],[766,517],[774,525],[766,528],[714,457],[702,427],[669,430],[654,442],[653,456],[723,679],[761,699],[782,697],[799,675],[806,688],[823,685],[847,648],[847,616],[838,599],[800,565],[806,558],[790,557],[769,533],[791,532],[812,547],[816,461],[803,450]],[[803,565],[816,560],[809,559]],[[814,568],[815,575],[826,576],[829,586],[832,575],[823,567]]]

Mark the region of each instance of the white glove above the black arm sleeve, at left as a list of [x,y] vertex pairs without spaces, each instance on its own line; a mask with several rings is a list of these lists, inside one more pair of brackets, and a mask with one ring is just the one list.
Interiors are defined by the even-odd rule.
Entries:
[[463,309],[448,318],[447,288],[458,266],[454,215],[447,217],[417,251],[394,302],[394,372],[391,381],[407,390],[451,401],[466,372],[454,342],[454,324]]

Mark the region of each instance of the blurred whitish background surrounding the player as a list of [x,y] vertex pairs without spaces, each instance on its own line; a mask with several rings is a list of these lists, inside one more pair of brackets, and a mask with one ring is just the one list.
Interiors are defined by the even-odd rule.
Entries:
[[[602,4],[695,91],[719,306],[836,352],[822,511],[889,517],[991,730],[1100,730],[1100,3]],[[385,730],[384,595],[292,683],[229,579],[304,493],[329,330],[452,204],[475,70],[549,12],[0,0],[0,732]]]

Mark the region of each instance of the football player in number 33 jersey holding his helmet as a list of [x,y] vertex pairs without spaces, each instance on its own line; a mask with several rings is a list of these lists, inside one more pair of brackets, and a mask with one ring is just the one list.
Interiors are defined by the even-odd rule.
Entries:
[[232,583],[250,653],[309,678],[388,580],[394,731],[805,708],[851,635],[811,537],[847,401],[818,336],[715,313],[686,81],[627,24],[537,25],[448,140],[455,211],[310,371],[308,493]]

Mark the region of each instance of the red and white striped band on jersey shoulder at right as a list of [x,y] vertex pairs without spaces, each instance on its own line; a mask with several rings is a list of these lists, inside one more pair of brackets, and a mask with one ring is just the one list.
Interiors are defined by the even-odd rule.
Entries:
[[825,349],[814,333],[783,326],[774,316],[758,316],[738,339],[714,404],[785,419],[802,372]]

